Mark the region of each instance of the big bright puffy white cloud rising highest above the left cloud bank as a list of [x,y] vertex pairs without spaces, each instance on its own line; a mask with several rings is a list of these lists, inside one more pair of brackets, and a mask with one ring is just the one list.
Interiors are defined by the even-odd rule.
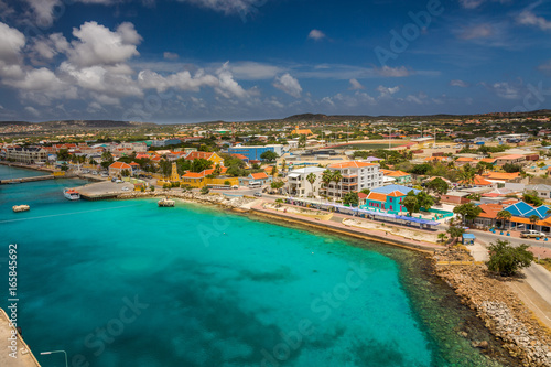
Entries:
[[142,39],[132,23],[122,23],[111,32],[97,22],[86,22],[73,29],[73,35],[78,41],[71,42],[67,55],[71,63],[80,67],[114,65],[140,54],[136,46]]

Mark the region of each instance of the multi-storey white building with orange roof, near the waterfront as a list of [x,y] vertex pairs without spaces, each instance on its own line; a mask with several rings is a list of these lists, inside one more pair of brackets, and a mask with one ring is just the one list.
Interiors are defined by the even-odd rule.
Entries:
[[383,185],[382,172],[379,172],[379,164],[352,161],[334,163],[327,166],[331,171],[339,171],[343,179],[338,182],[331,182],[326,188],[326,195],[332,197],[343,197],[352,192],[360,192],[364,188],[375,188]]

